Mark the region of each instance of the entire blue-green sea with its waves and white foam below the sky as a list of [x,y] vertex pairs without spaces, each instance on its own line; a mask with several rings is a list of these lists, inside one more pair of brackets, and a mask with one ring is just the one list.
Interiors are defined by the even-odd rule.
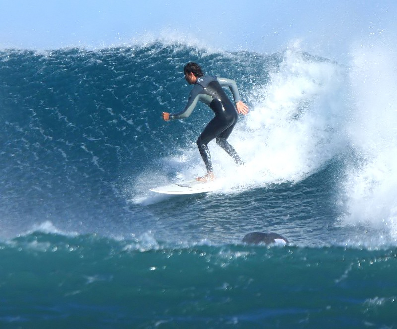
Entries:
[[[1,50],[0,328],[397,328],[396,66],[377,56]],[[188,61],[236,80],[245,166],[212,142],[223,187],[164,196],[205,173],[210,109],[161,119]]]

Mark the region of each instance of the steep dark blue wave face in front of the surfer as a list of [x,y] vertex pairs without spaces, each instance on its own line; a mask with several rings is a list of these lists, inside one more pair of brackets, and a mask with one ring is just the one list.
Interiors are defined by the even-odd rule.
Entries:
[[[261,60],[247,56],[249,81]],[[2,51],[0,211],[7,224],[20,224],[10,234],[23,231],[25,219],[78,232],[81,221],[89,223],[81,232],[92,232],[93,221],[129,220],[135,210],[125,209],[123,190],[143,172],[150,186],[159,184],[162,170],[153,164],[190,147],[208,120],[208,113],[173,127],[160,120],[162,111],[184,106],[181,71],[190,57],[220,74],[245,72],[234,56],[160,43],[96,52]]]

